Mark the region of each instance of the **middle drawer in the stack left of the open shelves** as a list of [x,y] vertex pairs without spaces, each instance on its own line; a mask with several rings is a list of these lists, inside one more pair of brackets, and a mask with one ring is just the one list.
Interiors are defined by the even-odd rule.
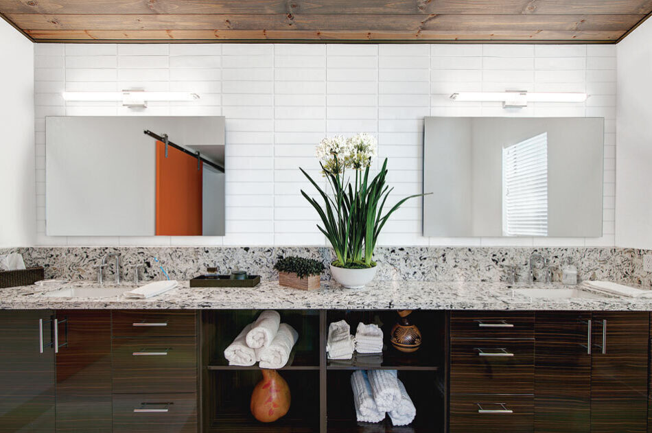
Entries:
[[196,339],[114,338],[114,393],[194,393]]

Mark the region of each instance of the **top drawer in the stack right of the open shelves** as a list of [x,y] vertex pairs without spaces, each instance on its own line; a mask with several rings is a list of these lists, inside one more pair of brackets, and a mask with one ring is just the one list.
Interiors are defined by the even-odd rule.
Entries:
[[531,312],[452,312],[451,338],[534,338]]

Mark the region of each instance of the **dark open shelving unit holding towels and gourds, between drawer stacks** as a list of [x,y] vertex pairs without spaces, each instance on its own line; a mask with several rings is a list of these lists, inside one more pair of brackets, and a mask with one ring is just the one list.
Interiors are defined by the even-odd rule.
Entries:
[[[292,393],[290,412],[274,423],[260,423],[249,410],[251,392],[261,379],[258,366],[229,366],[224,349],[261,310],[206,310],[202,312],[202,432],[245,433],[439,433],[445,431],[447,380],[444,360],[448,342],[445,312],[415,310],[410,320],[423,336],[415,353],[397,351],[389,342],[396,323],[395,310],[277,310],[281,322],[299,332],[290,362],[279,373]],[[345,319],[355,334],[359,322],[377,323],[384,333],[382,363],[330,362],[326,337],[331,322]],[[417,417],[410,425],[358,423],[351,392],[356,369],[396,369]]]

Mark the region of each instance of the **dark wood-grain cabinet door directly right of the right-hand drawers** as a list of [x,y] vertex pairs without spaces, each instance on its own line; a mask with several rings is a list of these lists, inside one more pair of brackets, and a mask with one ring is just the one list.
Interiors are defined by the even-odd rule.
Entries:
[[589,433],[591,313],[537,312],[535,432]]

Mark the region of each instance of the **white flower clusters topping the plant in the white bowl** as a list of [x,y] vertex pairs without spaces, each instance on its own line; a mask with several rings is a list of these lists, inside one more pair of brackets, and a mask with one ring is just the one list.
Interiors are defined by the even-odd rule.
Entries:
[[341,135],[326,137],[317,145],[315,156],[331,173],[336,172],[336,167],[340,173],[345,168],[364,169],[377,156],[377,141],[366,132],[348,139]]

